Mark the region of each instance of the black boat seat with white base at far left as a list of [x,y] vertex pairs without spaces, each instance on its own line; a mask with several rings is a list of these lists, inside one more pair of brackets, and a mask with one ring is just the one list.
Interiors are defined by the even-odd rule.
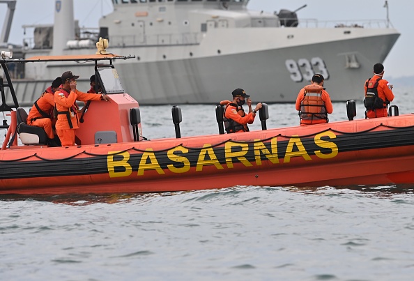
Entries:
[[45,130],[40,127],[27,125],[27,113],[22,107],[16,109],[17,132],[22,144],[47,144]]

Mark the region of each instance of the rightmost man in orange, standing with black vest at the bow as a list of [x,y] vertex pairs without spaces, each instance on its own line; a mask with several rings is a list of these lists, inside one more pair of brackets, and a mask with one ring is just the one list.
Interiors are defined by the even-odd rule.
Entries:
[[[384,66],[381,63],[374,64],[374,76],[365,81],[365,118],[377,118],[388,116],[388,105],[394,100],[392,84],[383,79]],[[381,100],[377,100],[377,99]]]

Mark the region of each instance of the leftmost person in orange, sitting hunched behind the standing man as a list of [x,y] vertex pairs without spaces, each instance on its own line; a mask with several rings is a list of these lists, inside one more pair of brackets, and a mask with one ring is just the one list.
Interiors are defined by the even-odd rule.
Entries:
[[53,116],[54,109],[54,92],[61,86],[62,79],[57,77],[52,82],[52,86],[49,86],[29,111],[29,116],[27,116],[27,124],[31,126],[37,126],[43,128],[46,132],[47,137],[49,138],[49,146],[59,146],[59,139],[55,139],[53,132],[53,125],[56,122]]

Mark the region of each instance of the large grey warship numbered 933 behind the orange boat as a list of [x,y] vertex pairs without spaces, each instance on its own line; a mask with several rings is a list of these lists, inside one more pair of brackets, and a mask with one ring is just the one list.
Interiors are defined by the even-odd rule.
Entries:
[[[109,38],[109,52],[136,56],[118,63],[118,73],[125,91],[153,105],[217,103],[231,98],[236,88],[254,94],[256,101],[294,102],[314,73],[325,77],[333,101],[360,100],[365,77],[399,37],[385,21],[321,26],[298,20],[293,12],[287,18],[282,11],[247,10],[247,2],[113,0],[114,11],[100,19],[96,35]],[[56,1],[52,49],[35,47],[26,58],[94,52],[95,38],[76,38],[72,32],[72,15],[72,0]],[[17,84],[24,103],[31,104],[66,70],[81,75],[81,89],[89,89],[93,73],[82,64],[39,65],[27,64]]]

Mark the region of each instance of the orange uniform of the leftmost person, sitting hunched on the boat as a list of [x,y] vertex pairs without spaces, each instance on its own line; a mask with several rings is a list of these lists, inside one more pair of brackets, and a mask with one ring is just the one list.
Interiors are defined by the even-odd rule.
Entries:
[[54,109],[54,94],[52,91],[52,86],[46,89],[46,91],[36,100],[35,102],[39,109],[43,112],[40,113],[36,105],[33,105],[29,111],[29,116],[27,116],[27,124],[31,126],[36,126],[43,128],[46,132],[49,139],[54,138],[54,133],[52,129],[52,116]]

